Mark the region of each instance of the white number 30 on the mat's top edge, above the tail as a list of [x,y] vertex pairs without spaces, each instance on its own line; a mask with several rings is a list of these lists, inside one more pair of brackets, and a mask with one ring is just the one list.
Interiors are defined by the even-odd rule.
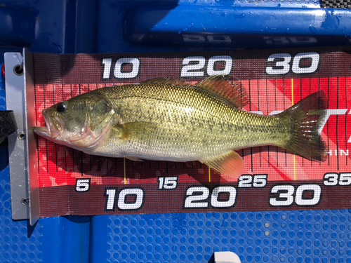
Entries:
[[[308,65],[303,67],[301,63],[308,60]],[[291,55],[289,53],[272,54],[267,58],[267,63],[274,63],[272,66],[266,66],[265,72],[269,75],[287,74],[290,70],[294,74],[310,74],[317,72],[319,65],[319,54],[316,52],[298,53],[293,57],[291,66]]]

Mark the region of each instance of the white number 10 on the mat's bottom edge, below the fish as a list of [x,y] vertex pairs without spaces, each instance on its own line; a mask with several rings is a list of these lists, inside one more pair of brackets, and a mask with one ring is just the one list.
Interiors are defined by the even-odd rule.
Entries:
[[[106,205],[105,210],[113,211],[117,203],[119,210],[138,210],[144,203],[144,190],[141,188],[126,188],[119,191],[117,189],[106,189]],[[116,198],[117,196],[117,198]],[[130,200],[128,200],[128,198]]]

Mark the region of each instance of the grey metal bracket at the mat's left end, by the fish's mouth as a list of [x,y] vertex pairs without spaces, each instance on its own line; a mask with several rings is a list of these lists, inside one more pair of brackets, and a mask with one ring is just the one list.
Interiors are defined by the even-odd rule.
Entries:
[[12,218],[29,218],[33,225],[39,220],[39,193],[32,53],[24,48],[22,54],[5,53],[4,58],[6,107],[13,110],[18,125],[8,136]]

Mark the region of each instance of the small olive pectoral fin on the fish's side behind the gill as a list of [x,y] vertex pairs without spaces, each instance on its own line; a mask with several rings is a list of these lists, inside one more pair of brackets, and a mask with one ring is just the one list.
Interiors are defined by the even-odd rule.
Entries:
[[154,123],[143,121],[135,121],[117,124],[115,128],[119,131],[119,139],[121,140],[145,140],[147,135],[154,133],[157,126]]

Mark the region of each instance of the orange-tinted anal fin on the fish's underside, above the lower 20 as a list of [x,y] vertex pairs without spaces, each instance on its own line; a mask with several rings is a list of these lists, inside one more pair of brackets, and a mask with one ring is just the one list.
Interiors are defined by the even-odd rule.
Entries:
[[213,159],[200,161],[205,163],[206,166],[232,177],[239,177],[244,171],[244,160],[235,151],[230,151],[228,154]]

